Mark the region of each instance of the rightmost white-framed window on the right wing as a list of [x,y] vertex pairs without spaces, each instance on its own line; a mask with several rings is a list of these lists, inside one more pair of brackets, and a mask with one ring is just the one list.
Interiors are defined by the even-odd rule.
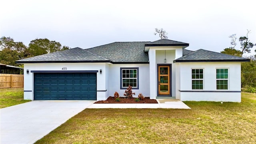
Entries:
[[216,69],[217,90],[228,90],[228,69]]

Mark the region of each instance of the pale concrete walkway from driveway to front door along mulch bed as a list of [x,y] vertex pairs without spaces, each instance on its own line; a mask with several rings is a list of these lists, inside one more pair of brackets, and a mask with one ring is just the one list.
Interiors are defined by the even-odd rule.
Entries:
[[176,108],[190,109],[186,104],[176,99],[157,99],[158,104],[91,104],[87,108]]

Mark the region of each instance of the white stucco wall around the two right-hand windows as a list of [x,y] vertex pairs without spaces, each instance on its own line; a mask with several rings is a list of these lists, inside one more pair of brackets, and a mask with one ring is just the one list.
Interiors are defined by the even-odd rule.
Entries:
[[[180,100],[183,101],[222,101],[241,102],[241,63],[240,62],[181,62]],[[192,90],[192,68],[204,69],[203,90]],[[216,90],[216,69],[228,68],[228,90]],[[176,90],[176,91],[177,91]],[[182,92],[210,91],[210,92]]]

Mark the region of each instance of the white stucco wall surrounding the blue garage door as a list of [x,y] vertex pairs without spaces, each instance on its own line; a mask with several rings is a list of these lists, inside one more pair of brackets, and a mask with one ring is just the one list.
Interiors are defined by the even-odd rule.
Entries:
[[[97,92],[97,100],[106,100],[108,98],[108,64],[106,63],[42,63],[42,64],[24,64],[24,99],[34,100],[34,73],[33,70],[98,70],[97,90],[107,90],[106,92]],[[100,69],[102,74],[100,74]],[[29,70],[29,74],[26,73]],[[65,70],[63,70],[65,71]]]

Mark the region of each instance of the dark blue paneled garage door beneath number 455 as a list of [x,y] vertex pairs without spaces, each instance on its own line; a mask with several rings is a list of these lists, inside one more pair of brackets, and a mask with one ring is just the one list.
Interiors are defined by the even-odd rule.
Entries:
[[96,73],[34,73],[34,100],[96,100]]

